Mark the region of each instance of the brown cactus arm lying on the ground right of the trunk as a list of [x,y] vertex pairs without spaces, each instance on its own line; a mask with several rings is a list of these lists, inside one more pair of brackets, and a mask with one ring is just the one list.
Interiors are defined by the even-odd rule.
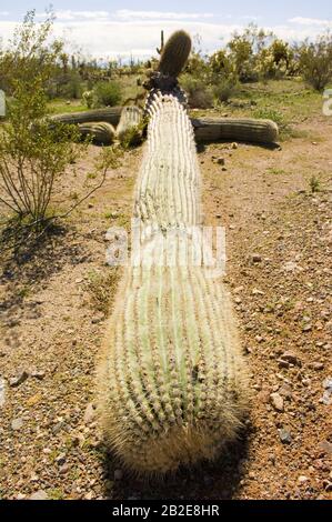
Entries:
[[222,140],[276,143],[279,139],[278,124],[271,120],[200,118],[191,122],[198,143]]

